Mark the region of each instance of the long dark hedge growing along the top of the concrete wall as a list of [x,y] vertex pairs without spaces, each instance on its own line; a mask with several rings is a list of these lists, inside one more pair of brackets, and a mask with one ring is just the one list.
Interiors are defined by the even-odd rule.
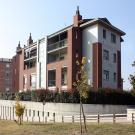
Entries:
[[[0,99],[14,100],[16,93],[0,93]],[[58,92],[49,90],[34,90],[18,93],[23,101],[56,102],[56,103],[79,103],[79,94],[76,90]],[[86,104],[118,104],[135,105],[135,92],[113,89],[90,89],[88,99],[83,100]]]

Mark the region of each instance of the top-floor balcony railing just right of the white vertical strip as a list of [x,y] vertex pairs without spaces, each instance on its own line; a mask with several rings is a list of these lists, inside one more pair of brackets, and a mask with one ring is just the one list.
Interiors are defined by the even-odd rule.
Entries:
[[65,47],[65,46],[67,46],[67,39],[61,40],[61,41],[56,42],[56,43],[51,44],[51,45],[48,45],[47,51],[49,52],[52,50],[60,49],[60,48]]

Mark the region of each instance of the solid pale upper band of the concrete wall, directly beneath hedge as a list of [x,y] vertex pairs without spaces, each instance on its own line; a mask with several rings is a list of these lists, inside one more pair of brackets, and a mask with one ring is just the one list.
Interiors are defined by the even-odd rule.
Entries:
[[[28,102],[23,101],[26,109],[43,111],[43,104],[40,102]],[[0,106],[13,107],[15,101],[11,100],[0,100]],[[99,104],[84,104],[84,112],[86,114],[112,114],[112,113],[126,113],[127,105],[99,105]],[[45,112],[73,115],[79,114],[79,104],[69,103],[46,103],[44,106]]]

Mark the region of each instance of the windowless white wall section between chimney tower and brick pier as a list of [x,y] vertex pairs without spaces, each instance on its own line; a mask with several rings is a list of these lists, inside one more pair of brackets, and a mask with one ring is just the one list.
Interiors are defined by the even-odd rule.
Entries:
[[93,82],[93,47],[92,44],[98,42],[98,25],[87,27],[82,32],[82,54],[83,57],[86,57],[88,63],[87,73],[88,73],[88,82],[92,84]]

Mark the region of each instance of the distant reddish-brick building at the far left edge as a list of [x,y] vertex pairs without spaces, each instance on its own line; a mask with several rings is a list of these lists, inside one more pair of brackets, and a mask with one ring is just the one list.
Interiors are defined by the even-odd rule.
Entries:
[[0,92],[12,91],[11,59],[0,58]]

